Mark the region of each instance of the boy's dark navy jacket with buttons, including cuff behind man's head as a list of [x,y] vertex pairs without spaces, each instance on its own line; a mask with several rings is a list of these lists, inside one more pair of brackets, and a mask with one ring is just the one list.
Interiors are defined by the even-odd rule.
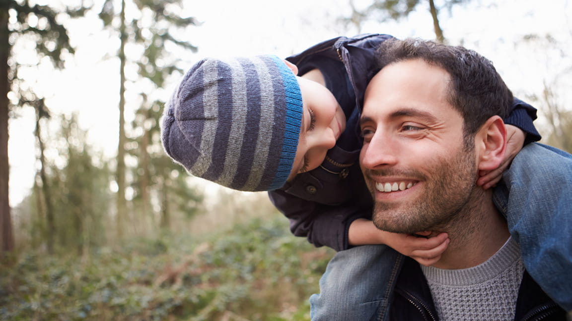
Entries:
[[[358,125],[367,84],[379,71],[375,50],[391,38],[385,34],[338,37],[287,58],[298,66],[299,75],[320,69],[347,119],[344,133],[320,167],[269,192],[272,203],[290,220],[292,233],[307,237],[316,247],[346,250],[353,220],[371,219],[372,200],[359,167],[362,140]],[[541,138],[534,119],[536,109],[515,99],[505,123],[522,129],[529,143]]]

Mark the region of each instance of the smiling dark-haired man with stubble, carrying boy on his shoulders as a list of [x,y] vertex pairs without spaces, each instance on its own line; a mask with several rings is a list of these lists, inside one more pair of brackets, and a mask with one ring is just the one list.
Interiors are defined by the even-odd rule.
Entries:
[[525,271],[492,191],[475,184],[479,171],[502,161],[502,117],[513,101],[492,64],[462,47],[419,40],[386,42],[379,59],[360,122],[374,224],[450,239],[433,266],[404,258],[379,319],[563,320]]

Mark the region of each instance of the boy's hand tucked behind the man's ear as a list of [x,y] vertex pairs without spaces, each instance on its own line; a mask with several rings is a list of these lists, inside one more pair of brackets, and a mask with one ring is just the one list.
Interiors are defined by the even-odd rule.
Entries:
[[510,166],[513,158],[521,151],[525,143],[525,133],[516,126],[506,125],[507,145],[505,151],[505,159],[501,166],[492,171],[479,171],[479,179],[476,180],[477,186],[482,186],[485,190],[496,186],[502,178],[502,173]]

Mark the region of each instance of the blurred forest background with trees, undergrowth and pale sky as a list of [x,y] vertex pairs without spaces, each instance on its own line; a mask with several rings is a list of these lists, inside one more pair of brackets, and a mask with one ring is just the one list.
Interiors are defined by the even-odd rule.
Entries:
[[164,154],[182,73],[338,35],[438,39],[491,59],[570,152],[571,17],[566,0],[1,0],[0,319],[309,320],[333,251]]

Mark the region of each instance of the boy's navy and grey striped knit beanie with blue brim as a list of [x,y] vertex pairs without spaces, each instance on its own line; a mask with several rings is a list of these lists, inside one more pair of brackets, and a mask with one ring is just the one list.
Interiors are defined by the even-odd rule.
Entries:
[[292,170],[301,118],[298,81],[280,58],[203,59],[165,106],[162,142],[193,176],[275,190]]

